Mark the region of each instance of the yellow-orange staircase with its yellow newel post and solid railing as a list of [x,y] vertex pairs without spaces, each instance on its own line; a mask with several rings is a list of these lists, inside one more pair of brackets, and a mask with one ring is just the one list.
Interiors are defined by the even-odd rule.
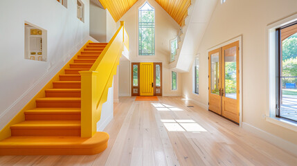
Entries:
[[[97,104],[94,109],[92,105],[86,105],[86,100],[96,103],[106,101],[105,91],[111,86],[111,75],[116,74],[114,66],[118,65],[125,36],[127,33],[122,23],[109,44],[85,44],[62,71],[0,132],[0,155],[91,155],[104,151],[109,135],[96,131],[102,107]],[[112,53],[111,49],[115,47],[120,54]],[[114,61],[111,62],[111,59]],[[96,69],[94,71],[91,68],[98,68],[107,63],[105,61],[109,62],[109,66],[105,66],[106,71],[100,71],[107,72],[109,77],[101,78],[105,86],[100,87],[102,92],[98,92],[95,91],[98,84],[93,84],[92,81],[82,82],[82,77],[87,77],[82,73],[98,74]],[[82,88],[82,84],[88,87]],[[88,91],[89,86],[93,87],[93,91]],[[100,98],[93,99],[94,94],[100,95]],[[40,96],[43,98],[39,98]],[[92,113],[94,111],[96,113]],[[89,122],[92,127],[88,126]]]

